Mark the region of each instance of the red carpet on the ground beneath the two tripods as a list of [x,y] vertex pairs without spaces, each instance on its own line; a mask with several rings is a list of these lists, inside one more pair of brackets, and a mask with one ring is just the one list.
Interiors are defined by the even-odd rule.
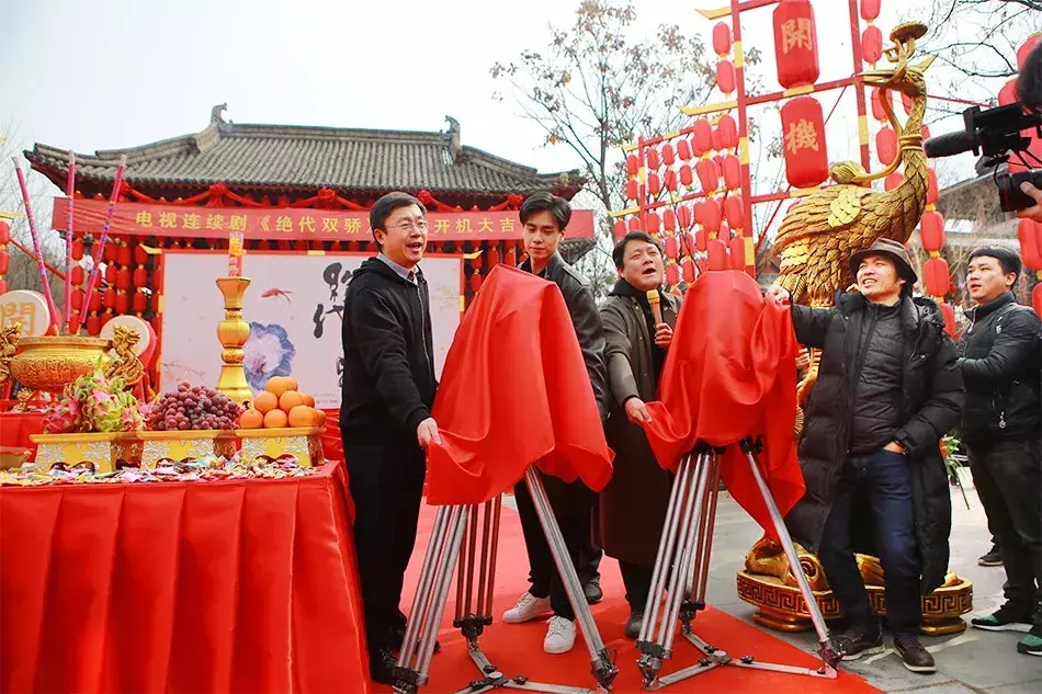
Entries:
[[[420,534],[417,539],[412,564],[406,576],[405,598],[403,608],[411,607],[412,593],[427,550],[427,543],[434,520],[434,509],[423,507],[420,515]],[[528,624],[503,624],[500,616],[503,611],[514,605],[518,596],[528,588],[528,558],[524,553],[524,538],[521,536],[521,525],[514,511],[503,507],[502,525],[499,538],[499,560],[496,577],[496,600],[492,616],[492,626],[482,636],[482,649],[488,659],[495,663],[503,674],[514,676],[523,674],[530,680],[568,684],[593,689],[593,678],[590,675],[590,661],[581,634],[576,639],[575,648],[566,656],[548,656],[543,652],[543,636],[546,633],[544,621]],[[639,652],[633,641],[622,635],[622,625],[630,615],[628,606],[623,598],[625,591],[619,576],[619,567],[608,557],[601,562],[601,587],[604,600],[593,606],[593,618],[597,621],[601,638],[609,649],[618,652],[615,663],[619,667],[619,676],[615,679],[613,692],[630,693],[645,692],[641,685],[641,673],[636,667]],[[444,694],[464,687],[473,680],[479,679],[477,669],[466,655],[466,641],[460,633],[452,628],[454,612],[455,581],[453,592],[449,596],[445,610],[445,619],[442,623],[440,641],[441,653],[434,656],[431,663],[431,679],[421,692]],[[696,619],[695,633],[726,650],[734,656],[751,655],[761,661],[781,662],[799,667],[815,667],[820,660],[800,650],[770,634],[746,624],[717,610],[706,610]],[[662,673],[673,672],[696,661],[698,651],[693,646],[677,637],[673,658],[662,668]],[[510,691],[510,690],[499,690]],[[780,674],[747,670],[744,668],[716,668],[705,674],[698,675],[667,687],[664,692],[684,694],[690,692],[727,692],[743,694],[745,692],[771,692],[772,694],[867,694],[880,690],[868,684],[862,678],[848,672],[840,672],[837,680],[819,680],[793,674]],[[374,693],[390,692],[389,686],[375,685]]]

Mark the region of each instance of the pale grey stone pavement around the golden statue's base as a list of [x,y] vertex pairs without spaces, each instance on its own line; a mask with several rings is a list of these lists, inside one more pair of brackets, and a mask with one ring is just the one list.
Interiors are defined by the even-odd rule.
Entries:
[[[990,534],[976,492],[967,489],[966,497],[969,510],[959,490],[952,490],[950,569],[973,581],[974,611],[971,614],[977,616],[993,612],[1001,603],[1006,574],[1001,567],[977,566],[977,557],[990,548]],[[721,493],[707,599],[714,607],[750,624],[755,608],[738,599],[735,571],[743,565],[746,551],[760,534],[759,526],[730,496]],[[970,616],[965,615],[967,622]],[[817,648],[814,632],[769,632],[805,650],[814,651]],[[893,644],[888,635],[884,634],[887,645],[885,653],[847,662],[842,667],[886,692],[1042,694],[1042,658],[1018,653],[1017,641],[1020,637],[1019,633],[995,634],[967,628],[954,636],[925,638],[924,644],[937,660],[938,672],[922,675],[909,672],[901,664],[892,651]]]

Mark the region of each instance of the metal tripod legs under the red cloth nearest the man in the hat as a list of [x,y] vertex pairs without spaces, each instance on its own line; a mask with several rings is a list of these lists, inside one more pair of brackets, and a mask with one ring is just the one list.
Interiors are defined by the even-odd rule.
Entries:
[[[666,524],[652,573],[652,590],[644,610],[644,624],[637,637],[637,650],[642,653],[637,665],[644,675],[646,689],[661,689],[721,665],[816,678],[836,678],[836,664],[842,658],[842,653],[837,652],[833,647],[820,607],[811,591],[806,576],[800,568],[795,545],[760,473],[759,463],[756,459],[757,447],[750,439],[744,439],[737,445],[749,463],[763,502],[770,511],[771,521],[785,557],[789,559],[789,566],[793,567],[793,574],[800,584],[800,592],[803,594],[814,629],[817,632],[822,667],[812,669],[757,662],[752,656],[741,656],[735,660],[694,634],[691,623],[698,612],[705,608],[705,587],[709,579],[710,553],[720,488],[720,456],[724,452],[724,448],[714,448],[700,442],[692,452],[681,458],[673,480],[666,511]],[[680,634],[702,651],[704,657],[698,664],[659,676],[664,661],[672,657],[678,619]]]

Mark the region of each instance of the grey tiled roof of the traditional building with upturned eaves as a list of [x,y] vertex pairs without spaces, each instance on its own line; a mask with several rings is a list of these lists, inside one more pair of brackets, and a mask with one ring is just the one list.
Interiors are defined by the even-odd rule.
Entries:
[[[77,178],[112,181],[120,156],[136,187],[205,190],[217,182],[239,189],[380,193],[389,190],[502,197],[554,191],[570,198],[582,184],[578,171],[535,169],[460,144],[460,126],[444,133],[370,130],[225,122],[214,110],[201,133],[118,150],[77,155]],[[59,187],[68,151],[36,144],[25,156]]]

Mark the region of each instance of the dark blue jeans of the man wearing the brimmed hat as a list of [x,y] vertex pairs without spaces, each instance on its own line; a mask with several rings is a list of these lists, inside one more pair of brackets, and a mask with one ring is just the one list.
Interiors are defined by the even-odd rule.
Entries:
[[879,629],[880,617],[858,571],[850,543],[850,505],[864,493],[875,524],[875,546],[883,566],[886,621],[895,636],[917,636],[922,623],[919,556],[911,505],[908,460],[899,453],[877,451],[847,458],[839,491],[825,522],[818,558],[851,625]]

